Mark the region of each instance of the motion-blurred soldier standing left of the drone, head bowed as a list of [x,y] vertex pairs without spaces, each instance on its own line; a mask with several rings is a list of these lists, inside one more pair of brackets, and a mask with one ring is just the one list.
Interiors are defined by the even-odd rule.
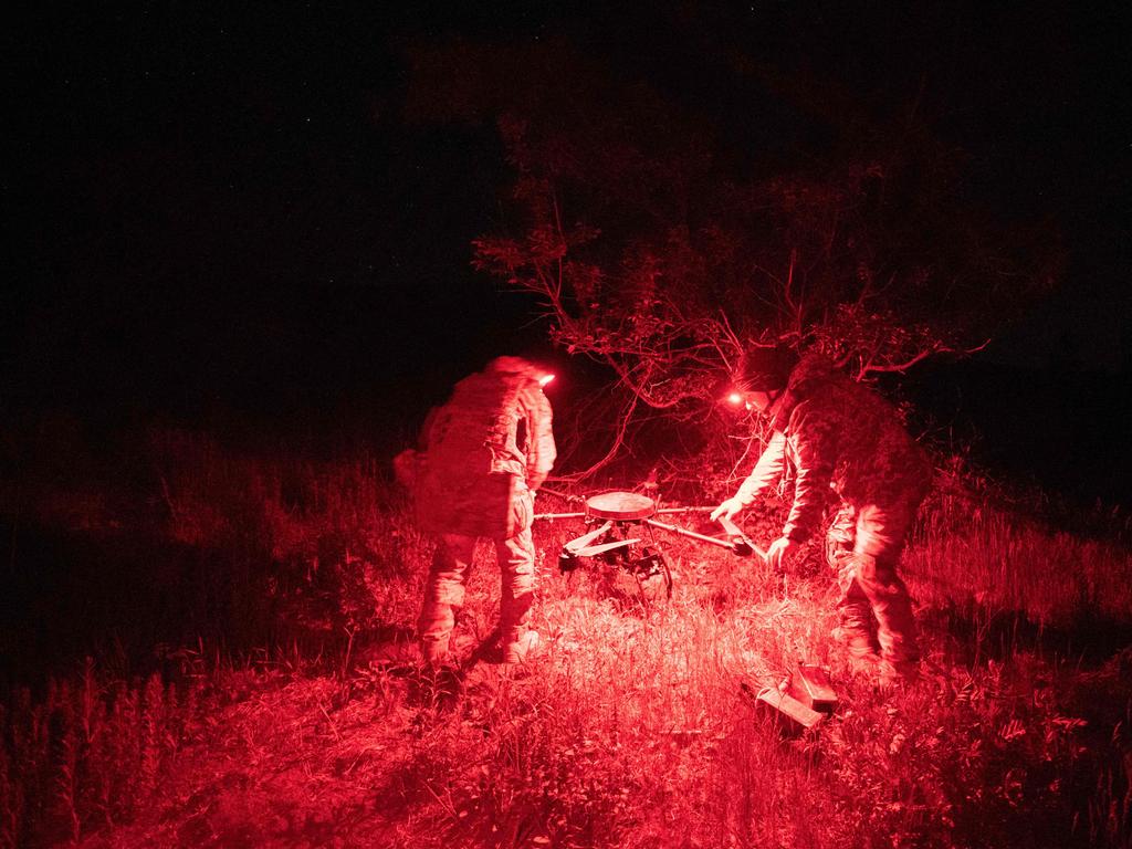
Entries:
[[[549,376],[526,360],[500,357],[456,384],[434,411],[421,454],[398,457],[414,478],[417,521],[439,537],[418,621],[421,653],[434,666],[449,657],[455,615],[477,539],[495,542],[503,584],[499,642],[505,662],[523,660],[538,641],[528,628],[535,586],[531,522],[534,492],[555,462]],[[411,465],[413,473],[404,475]]]

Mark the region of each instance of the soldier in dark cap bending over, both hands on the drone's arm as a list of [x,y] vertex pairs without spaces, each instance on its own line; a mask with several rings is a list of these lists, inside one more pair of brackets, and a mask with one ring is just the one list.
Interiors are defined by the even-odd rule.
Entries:
[[824,357],[798,361],[783,350],[754,352],[741,383],[739,398],[770,419],[773,435],[754,471],[712,518],[737,514],[789,464],[794,504],[767,551],[779,568],[817,530],[832,490],[840,507],[826,556],[842,591],[834,636],[854,657],[878,650],[893,672],[915,676],[916,621],[897,563],[931,484],[927,457],[891,405]]

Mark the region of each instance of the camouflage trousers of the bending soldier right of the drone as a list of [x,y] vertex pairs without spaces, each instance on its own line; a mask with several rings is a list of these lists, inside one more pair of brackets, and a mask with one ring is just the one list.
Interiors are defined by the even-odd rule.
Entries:
[[894,507],[842,503],[825,538],[825,557],[841,589],[841,636],[852,650],[880,648],[893,663],[916,661],[916,618],[897,574],[918,498]]

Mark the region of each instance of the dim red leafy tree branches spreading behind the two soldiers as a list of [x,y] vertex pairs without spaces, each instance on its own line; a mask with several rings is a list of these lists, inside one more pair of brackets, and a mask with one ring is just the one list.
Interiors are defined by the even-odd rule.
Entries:
[[612,370],[617,444],[646,408],[702,417],[753,346],[823,351],[858,379],[970,352],[1056,274],[1047,229],[981,209],[962,152],[912,108],[758,148],[564,43],[413,55],[418,110],[492,121],[513,169],[475,266]]

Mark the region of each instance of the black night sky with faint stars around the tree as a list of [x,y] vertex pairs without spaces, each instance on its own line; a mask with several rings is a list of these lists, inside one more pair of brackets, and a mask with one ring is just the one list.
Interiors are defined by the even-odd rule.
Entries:
[[470,265],[511,179],[499,139],[413,120],[406,50],[565,38],[783,162],[825,130],[738,77],[736,51],[864,114],[918,96],[980,201],[1054,222],[1067,251],[1058,292],[972,363],[926,372],[921,396],[984,417],[1000,454],[1065,440],[1066,470],[1097,464],[1078,486],[1127,492],[1127,29],[1107,5],[365,6],[58,3],[14,22],[7,413],[362,411],[396,431],[489,357],[537,346],[531,303]]

